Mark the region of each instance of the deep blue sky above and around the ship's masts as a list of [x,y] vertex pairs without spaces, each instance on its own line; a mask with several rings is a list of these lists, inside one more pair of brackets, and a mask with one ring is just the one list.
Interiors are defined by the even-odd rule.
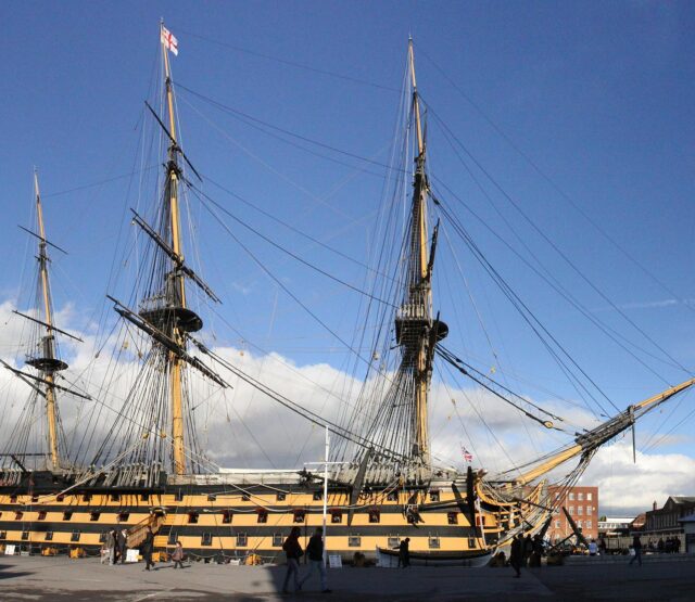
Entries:
[[[203,175],[201,188],[244,223],[363,289],[357,262],[369,264],[378,248],[379,165],[393,143],[412,35],[437,195],[615,407],[599,396],[599,404],[579,398],[444,223],[434,304],[450,323],[447,346],[506,374],[520,394],[581,414],[584,424],[601,418],[599,406],[611,413],[693,373],[690,3],[23,2],[2,11],[0,306],[7,311],[27,303],[35,251],[16,226],[31,227],[35,166],[48,236],[68,252],[52,261],[64,325],[96,340],[110,319],[104,295],[127,298],[137,264],[128,255],[129,207],[151,201],[146,184],[157,167],[141,150],[153,128],[143,101],[157,102],[160,17],[179,41],[172,68],[180,135]],[[229,110],[294,137],[261,131]],[[341,341],[354,335],[358,294],[227,219],[241,246],[194,198],[190,215],[200,225],[191,258],[224,299],[207,322],[213,343],[257,361],[260,373],[273,363],[268,358],[281,358],[324,384],[356,376]],[[591,318],[623,337],[622,345],[517,254],[556,279]],[[7,329],[0,342],[0,355],[16,354]],[[66,349],[87,361],[85,351]],[[477,461],[504,463],[504,453],[485,451],[496,449],[485,428],[473,432],[475,412],[462,409],[469,427],[463,434],[448,393],[433,397],[441,400],[433,402],[432,431],[447,441],[450,456],[464,445],[477,448]],[[247,418],[262,432],[270,410],[239,402],[260,412]],[[518,415],[508,420],[491,400],[478,402],[490,423],[497,420],[508,448],[538,450],[534,431]],[[599,485],[604,513],[695,492],[692,404],[684,397],[637,427],[637,464],[629,438],[596,457],[583,483]],[[633,490],[628,502],[627,486]]]

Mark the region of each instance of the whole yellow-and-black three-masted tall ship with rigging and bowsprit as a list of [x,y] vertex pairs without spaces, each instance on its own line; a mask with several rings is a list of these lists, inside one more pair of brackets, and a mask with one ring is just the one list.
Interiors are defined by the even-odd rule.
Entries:
[[[98,337],[93,362],[79,371],[62,354],[83,342],[56,320],[51,256],[63,249],[50,238],[35,176],[36,223],[26,235],[37,245],[36,287],[13,317],[26,338],[25,358],[0,358],[16,381],[12,395],[23,399],[11,417],[16,425],[0,441],[4,549],[93,554],[112,528],[127,529],[129,548],[152,528],[159,552],[180,541],[199,558],[274,562],[292,527],[308,537],[324,525],[328,553],[345,560],[356,552],[389,555],[408,537],[410,553],[424,562],[471,564],[505,549],[517,534],[543,534],[564,497],[551,496],[548,485],[573,486],[601,446],[695,384],[687,380],[571,433],[557,410],[515,393],[454,350],[459,346],[447,346],[460,333],[451,332],[433,293],[443,252],[439,219],[450,214],[432,193],[412,41],[402,162],[393,169],[401,187],[393,198],[404,202],[384,209],[381,253],[369,290],[362,291],[372,328],[363,331],[358,346],[368,353],[355,350],[359,390],[340,412],[321,413],[245,370],[206,337],[205,312],[220,299],[189,261],[197,249],[185,245],[194,230],[182,198],[210,198],[180,143],[169,65],[176,41],[163,25],[161,40],[163,94],[146,115],[164,141],[163,171],[152,202],[131,210],[131,292],[110,292],[113,323]],[[451,228],[466,236],[454,218]],[[519,428],[529,421],[555,430],[563,445],[495,473],[441,462],[429,425],[438,366],[511,407]],[[215,443],[201,441],[199,408],[240,385],[323,428],[325,457],[283,470],[213,462],[208,448]],[[336,396],[327,392],[329,401]],[[90,409],[77,411],[76,404]],[[67,418],[65,408],[72,408]]]

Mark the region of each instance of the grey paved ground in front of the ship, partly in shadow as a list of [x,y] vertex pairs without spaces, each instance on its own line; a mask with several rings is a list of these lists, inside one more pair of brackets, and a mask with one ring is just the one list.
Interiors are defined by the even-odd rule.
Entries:
[[[592,559],[594,560],[594,559]],[[302,567],[305,571],[305,567]],[[307,582],[296,594],[280,593],[283,566],[193,564],[174,571],[160,564],[144,572],[142,564],[105,566],[98,560],[0,556],[0,600],[60,602],[163,600],[212,602],[233,600],[386,600],[441,602],[536,601],[658,601],[695,600],[695,560],[569,564],[522,572],[508,568],[410,567],[351,568],[329,572],[333,593],[321,594]]]

